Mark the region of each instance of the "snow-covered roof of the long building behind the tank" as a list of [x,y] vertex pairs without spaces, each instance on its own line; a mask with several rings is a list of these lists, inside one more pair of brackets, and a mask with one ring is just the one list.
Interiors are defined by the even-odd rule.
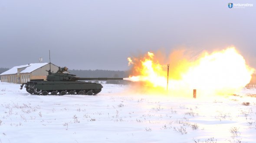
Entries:
[[20,71],[20,73],[31,73],[34,70],[45,66],[46,64],[49,63],[35,63],[35,64],[26,64],[26,65],[22,65],[22,66],[15,66],[13,68],[11,68],[10,70],[7,70],[3,73],[1,73],[0,75],[7,75],[7,74],[16,74],[18,72],[18,69],[26,67],[24,70]]

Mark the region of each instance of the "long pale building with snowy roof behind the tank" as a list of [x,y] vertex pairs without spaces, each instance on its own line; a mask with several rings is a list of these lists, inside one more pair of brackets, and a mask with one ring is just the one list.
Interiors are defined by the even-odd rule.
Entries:
[[[16,66],[0,74],[1,82],[21,84],[34,79],[46,80],[46,76],[48,75],[46,70],[49,69],[49,63],[36,63]],[[51,70],[53,72],[56,72],[58,69],[59,67],[51,63]]]

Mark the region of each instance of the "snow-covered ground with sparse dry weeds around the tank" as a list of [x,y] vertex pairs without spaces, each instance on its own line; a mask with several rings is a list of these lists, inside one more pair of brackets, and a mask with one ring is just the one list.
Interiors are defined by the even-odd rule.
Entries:
[[0,83],[0,143],[256,141],[256,98],[248,96],[256,95],[255,89],[193,99],[103,86],[96,96],[39,96],[18,84]]

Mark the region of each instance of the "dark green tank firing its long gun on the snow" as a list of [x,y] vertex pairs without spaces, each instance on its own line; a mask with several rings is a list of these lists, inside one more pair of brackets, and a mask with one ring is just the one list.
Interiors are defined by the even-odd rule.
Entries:
[[97,95],[103,86],[100,83],[82,82],[78,80],[122,80],[123,78],[85,78],[67,72],[67,67],[59,67],[56,73],[46,70],[46,81],[36,80],[23,83],[26,91],[32,95]]

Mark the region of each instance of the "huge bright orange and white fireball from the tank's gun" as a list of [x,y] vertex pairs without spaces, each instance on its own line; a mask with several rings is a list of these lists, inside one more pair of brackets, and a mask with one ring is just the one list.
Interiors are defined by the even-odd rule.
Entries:
[[148,52],[140,59],[128,59],[133,65],[128,80],[143,82],[137,86],[138,89],[153,93],[166,91],[165,65],[170,63],[168,93],[172,95],[191,95],[193,89],[197,89],[198,93],[203,95],[233,94],[250,82],[254,72],[233,47],[211,54],[205,52],[192,61],[181,54],[176,60],[172,56],[170,62],[160,63],[152,52]]

